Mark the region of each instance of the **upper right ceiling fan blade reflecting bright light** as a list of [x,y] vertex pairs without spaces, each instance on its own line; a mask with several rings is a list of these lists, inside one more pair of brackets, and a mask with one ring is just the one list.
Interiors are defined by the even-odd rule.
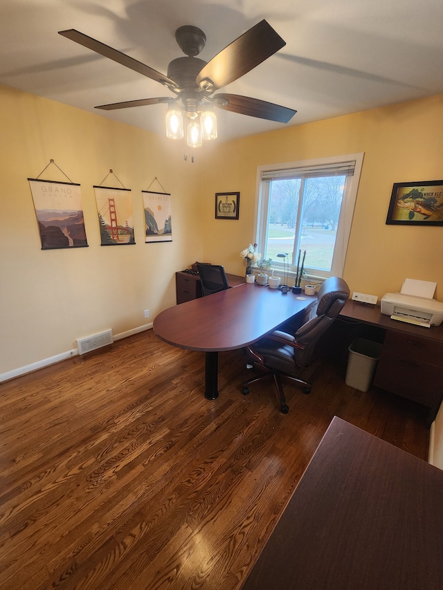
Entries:
[[209,80],[210,91],[215,91],[237,80],[285,45],[271,25],[262,20],[217,53],[197,75],[197,84]]

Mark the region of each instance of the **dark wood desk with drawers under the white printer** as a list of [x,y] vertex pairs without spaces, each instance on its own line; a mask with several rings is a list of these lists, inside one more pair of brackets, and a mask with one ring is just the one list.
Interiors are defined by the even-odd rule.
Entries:
[[391,320],[378,306],[347,301],[340,317],[386,331],[374,385],[429,408],[427,425],[443,399],[443,324],[424,328]]

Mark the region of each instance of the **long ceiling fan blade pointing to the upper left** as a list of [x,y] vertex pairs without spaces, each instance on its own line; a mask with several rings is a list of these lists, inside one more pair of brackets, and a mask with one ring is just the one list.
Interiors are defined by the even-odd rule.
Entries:
[[127,68],[130,68],[143,76],[151,78],[156,82],[160,82],[160,84],[168,86],[170,89],[177,88],[177,84],[173,80],[170,80],[168,76],[157,72],[156,70],[150,68],[150,66],[146,66],[145,64],[138,62],[137,59],[134,59],[134,57],[129,57],[129,55],[109,47],[109,45],[105,45],[104,43],[101,43],[92,37],[88,37],[88,35],[80,33],[80,31],[75,30],[75,28],[59,30],[58,33],[67,39],[71,39],[71,41],[75,41],[75,43],[87,47],[96,53],[100,53],[100,55],[104,55],[105,57],[109,57],[109,59],[113,59],[114,62],[118,62],[118,64],[122,64],[122,66],[126,66]]

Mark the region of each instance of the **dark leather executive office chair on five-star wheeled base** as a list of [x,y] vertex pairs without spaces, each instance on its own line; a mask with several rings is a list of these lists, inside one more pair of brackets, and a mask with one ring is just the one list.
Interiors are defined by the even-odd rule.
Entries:
[[275,331],[246,347],[250,358],[246,367],[264,369],[266,375],[244,381],[242,393],[248,394],[249,385],[272,375],[283,414],[289,412],[289,407],[284,398],[281,375],[303,385],[303,393],[309,394],[312,384],[302,378],[302,373],[314,356],[318,340],[332,325],[349,295],[349,288],[343,279],[329,277],[318,291],[317,303],[309,308],[308,317],[294,335],[281,330]]

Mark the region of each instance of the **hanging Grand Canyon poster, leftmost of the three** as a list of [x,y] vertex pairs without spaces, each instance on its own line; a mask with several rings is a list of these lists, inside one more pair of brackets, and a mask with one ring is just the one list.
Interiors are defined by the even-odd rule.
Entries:
[[88,246],[80,185],[28,178],[42,250]]

